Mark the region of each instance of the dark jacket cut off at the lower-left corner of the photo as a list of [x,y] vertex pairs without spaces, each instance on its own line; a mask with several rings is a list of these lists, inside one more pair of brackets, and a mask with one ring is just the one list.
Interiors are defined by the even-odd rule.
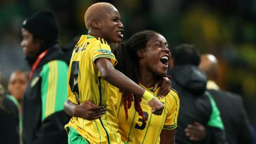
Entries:
[[1,143],[19,144],[18,108],[14,102],[7,97],[3,97],[3,101],[0,105],[2,105],[0,106]]

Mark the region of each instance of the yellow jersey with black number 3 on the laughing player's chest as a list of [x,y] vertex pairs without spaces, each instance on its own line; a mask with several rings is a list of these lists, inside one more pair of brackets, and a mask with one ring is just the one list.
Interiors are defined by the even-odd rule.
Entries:
[[[156,97],[159,88],[153,92],[153,87],[147,89],[143,85],[141,86]],[[120,102],[120,105],[117,108],[117,116],[119,132],[124,143],[159,143],[159,135],[162,129],[172,130],[177,127],[180,102],[178,94],[174,90],[171,90],[163,99],[157,98],[165,106],[163,114],[160,116],[152,114],[151,107],[148,106],[146,100],[142,99],[141,108],[146,122],[143,122],[142,117],[135,111],[134,102],[132,102],[132,107],[128,109],[128,119],[126,121],[122,105],[122,93],[119,93],[119,95],[118,102]]]

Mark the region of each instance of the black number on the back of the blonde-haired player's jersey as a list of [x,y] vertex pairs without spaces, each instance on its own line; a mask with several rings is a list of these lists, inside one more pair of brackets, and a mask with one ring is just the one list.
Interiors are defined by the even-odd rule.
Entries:
[[79,89],[78,89],[78,74],[79,74],[79,61],[73,61],[71,66],[69,86],[73,93],[76,94],[78,105],[79,103]]

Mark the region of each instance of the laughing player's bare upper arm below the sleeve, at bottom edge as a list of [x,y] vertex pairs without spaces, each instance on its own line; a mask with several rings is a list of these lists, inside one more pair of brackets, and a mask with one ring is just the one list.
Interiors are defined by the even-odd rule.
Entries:
[[160,144],[174,144],[175,132],[176,132],[176,129],[173,129],[173,130],[163,129],[160,134]]

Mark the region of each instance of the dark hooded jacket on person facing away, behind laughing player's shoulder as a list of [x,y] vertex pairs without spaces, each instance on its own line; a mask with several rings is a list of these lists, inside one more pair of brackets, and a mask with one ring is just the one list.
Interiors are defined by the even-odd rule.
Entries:
[[[218,126],[209,126],[213,107],[209,97],[205,94],[206,75],[195,66],[175,66],[169,71],[172,76],[172,88],[180,98],[180,110],[175,142],[180,143],[225,143],[225,134]],[[189,140],[185,128],[188,124],[199,122],[206,126],[206,139],[202,142]],[[221,123],[222,124],[222,123]]]

